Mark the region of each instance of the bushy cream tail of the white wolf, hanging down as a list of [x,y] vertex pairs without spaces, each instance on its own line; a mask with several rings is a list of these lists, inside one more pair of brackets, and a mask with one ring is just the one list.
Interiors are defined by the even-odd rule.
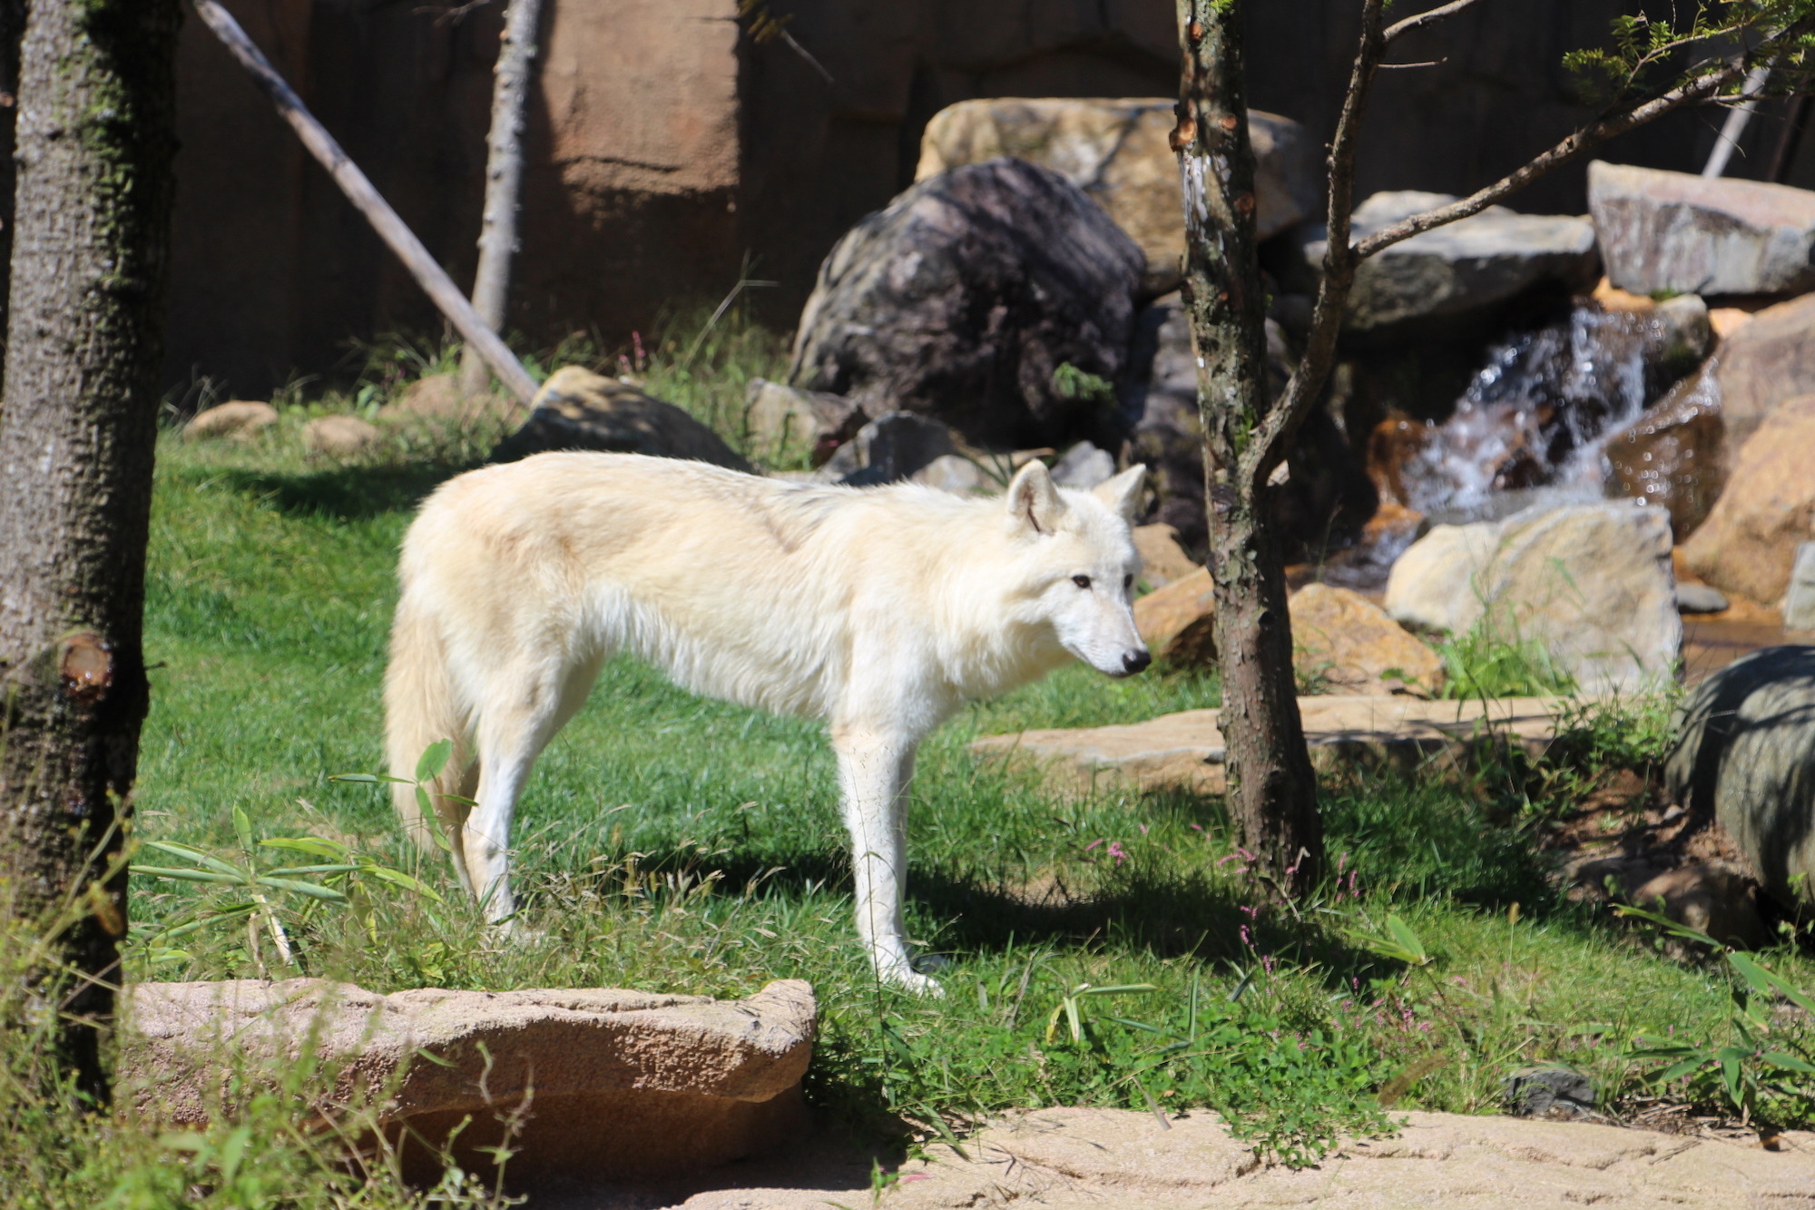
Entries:
[[390,759],[390,776],[403,778],[390,785],[392,803],[403,830],[423,848],[434,847],[434,832],[423,818],[416,799],[416,767],[432,745],[443,739],[452,741],[454,750],[441,765],[441,772],[423,783],[428,801],[434,803],[443,828],[450,830],[457,843],[459,825],[465,821],[465,803],[448,799],[448,794],[466,794],[472,779],[470,719],[454,694],[454,679],[448,672],[446,643],[434,616],[405,583],[403,598],[397,601],[397,616],[390,623],[390,665],[385,669],[385,749]]

